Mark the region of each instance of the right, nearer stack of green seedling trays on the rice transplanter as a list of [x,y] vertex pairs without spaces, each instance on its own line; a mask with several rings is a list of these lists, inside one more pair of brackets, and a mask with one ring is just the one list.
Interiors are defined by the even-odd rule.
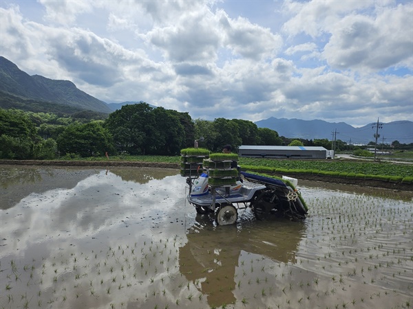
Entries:
[[214,187],[235,185],[238,170],[231,168],[231,162],[238,159],[233,153],[211,153],[209,159],[204,159],[203,166],[208,172],[208,183]]

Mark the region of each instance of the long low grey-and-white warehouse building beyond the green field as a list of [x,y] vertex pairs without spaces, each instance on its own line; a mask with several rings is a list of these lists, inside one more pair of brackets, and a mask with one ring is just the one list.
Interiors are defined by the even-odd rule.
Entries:
[[239,157],[273,159],[332,159],[332,150],[315,146],[249,146],[238,148]]

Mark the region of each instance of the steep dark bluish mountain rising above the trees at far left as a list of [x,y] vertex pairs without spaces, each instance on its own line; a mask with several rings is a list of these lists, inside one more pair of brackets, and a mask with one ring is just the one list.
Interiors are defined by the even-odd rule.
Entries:
[[76,88],[68,80],[51,80],[43,76],[30,76],[10,60],[0,56],[0,91],[18,98],[65,104],[100,113],[112,110],[103,101]]

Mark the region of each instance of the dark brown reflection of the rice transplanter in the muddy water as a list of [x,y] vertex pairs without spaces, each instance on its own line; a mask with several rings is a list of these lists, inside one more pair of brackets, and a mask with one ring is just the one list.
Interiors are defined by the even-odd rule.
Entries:
[[295,264],[299,242],[306,233],[304,222],[282,219],[217,228],[208,215],[198,215],[195,220],[187,244],[179,250],[180,273],[192,282],[201,282],[198,289],[207,295],[211,307],[235,302],[235,269],[249,262],[248,255]]

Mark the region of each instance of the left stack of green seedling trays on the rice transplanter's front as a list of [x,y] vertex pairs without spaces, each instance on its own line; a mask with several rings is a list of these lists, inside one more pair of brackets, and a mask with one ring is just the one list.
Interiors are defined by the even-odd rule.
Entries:
[[198,176],[202,172],[202,161],[209,158],[209,150],[204,148],[185,148],[181,150],[181,176]]

